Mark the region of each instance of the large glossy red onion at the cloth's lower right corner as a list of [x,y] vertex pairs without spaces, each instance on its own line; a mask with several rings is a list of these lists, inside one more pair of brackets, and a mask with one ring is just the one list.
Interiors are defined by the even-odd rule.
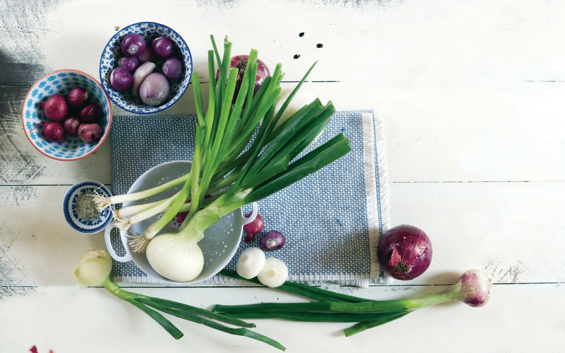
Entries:
[[412,280],[424,273],[432,262],[432,243],[423,230],[399,225],[383,234],[377,258],[385,272],[397,280]]

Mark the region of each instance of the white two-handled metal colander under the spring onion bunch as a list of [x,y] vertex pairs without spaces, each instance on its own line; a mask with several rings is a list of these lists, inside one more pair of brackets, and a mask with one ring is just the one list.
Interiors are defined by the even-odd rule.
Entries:
[[[166,162],[163,164],[156,165],[155,167],[149,169],[143,173],[137,180],[133,183],[131,188],[128,190],[129,193],[134,193],[137,191],[146,190],[163,184],[164,182],[173,180],[181,175],[184,175],[190,170],[190,165],[192,163],[184,160],[177,160],[173,162]],[[153,197],[146,198],[141,201],[136,202],[125,202],[123,207],[132,206],[133,204],[138,204],[140,202],[154,202],[161,200],[167,196],[171,196],[182,188],[182,185],[177,186],[174,189],[169,189],[163,193],[154,195]],[[222,268],[229,263],[236,253],[238,246],[240,245],[241,236],[243,233],[243,226],[250,223],[257,216],[257,203],[251,203],[251,215],[249,218],[244,217],[241,208],[236,211],[229,213],[222,217],[218,222],[212,225],[204,232],[204,237],[198,245],[202,250],[204,255],[204,267],[202,272],[194,280],[189,282],[178,282],[172,281],[168,278],[161,276],[159,273],[151,267],[145,254],[140,254],[138,252],[133,252],[131,246],[128,244],[128,238],[125,236],[124,232],[120,232],[120,238],[125,248],[125,255],[119,256],[112,247],[110,232],[112,228],[115,227],[114,223],[110,223],[106,227],[105,240],[108,252],[118,262],[128,262],[132,261],[149,276],[155,278],[158,281],[166,282],[168,284],[193,284],[207,278],[214,276]],[[147,226],[153,223],[155,219],[147,219],[141,221],[140,223],[131,226],[128,232],[133,232],[134,234],[143,234]],[[179,224],[176,221],[171,221],[162,232],[171,232],[176,230]]]

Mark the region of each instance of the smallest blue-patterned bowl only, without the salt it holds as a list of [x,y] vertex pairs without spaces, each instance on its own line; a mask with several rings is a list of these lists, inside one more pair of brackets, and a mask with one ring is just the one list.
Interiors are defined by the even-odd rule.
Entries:
[[75,185],[71,186],[63,199],[63,213],[65,215],[65,219],[73,229],[78,230],[81,233],[90,234],[100,232],[102,229],[106,228],[112,220],[110,207],[105,208],[105,210],[100,213],[100,216],[95,217],[94,219],[81,219],[79,217],[79,213],[75,210],[77,198],[79,198],[79,195],[82,193],[94,190],[105,197],[110,197],[112,195],[106,186],[97,181],[87,180],[77,182]]

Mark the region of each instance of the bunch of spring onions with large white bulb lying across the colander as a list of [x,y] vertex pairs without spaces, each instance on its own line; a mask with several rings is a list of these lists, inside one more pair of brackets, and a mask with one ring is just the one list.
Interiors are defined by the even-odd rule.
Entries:
[[[335,112],[331,102],[324,106],[315,99],[277,126],[314,65],[275,114],[283,76],[281,64],[277,64],[273,75],[267,76],[254,94],[258,53],[251,50],[239,93],[232,104],[238,76],[237,68],[229,68],[232,44],[225,39],[220,57],[213,36],[211,40],[214,50],[208,51],[208,74],[215,77],[217,63],[219,79],[215,84],[210,82],[205,112],[198,74],[192,75],[198,125],[190,172],[139,193],[95,198],[98,208],[103,210],[112,204],[137,201],[182,185],[172,197],[120,208],[115,214],[116,225],[122,230],[142,219],[161,215],[144,234],[135,234],[130,245],[133,251],[145,251],[151,267],[159,274],[182,282],[193,280],[202,271],[203,255],[197,243],[208,227],[237,208],[286,188],[351,150],[349,139],[338,134],[299,156],[329,123]],[[190,202],[186,202],[188,199]],[[178,212],[185,211],[189,213],[178,232],[159,234]]]

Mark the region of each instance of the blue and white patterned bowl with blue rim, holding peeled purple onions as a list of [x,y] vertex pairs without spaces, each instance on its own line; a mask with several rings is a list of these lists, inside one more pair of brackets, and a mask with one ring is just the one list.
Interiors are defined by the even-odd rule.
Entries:
[[[110,85],[110,73],[114,67],[117,66],[117,61],[120,56],[123,56],[120,50],[121,38],[129,33],[140,34],[140,36],[148,41],[153,41],[155,38],[165,36],[175,43],[176,49],[173,55],[177,55],[179,58],[182,56],[184,76],[169,82],[169,101],[160,106],[148,106],[142,102],[139,97],[133,95],[131,90],[120,92],[113,89]],[[106,94],[108,94],[111,101],[118,107],[134,114],[153,114],[171,107],[179,100],[182,94],[184,94],[186,88],[188,88],[190,76],[192,76],[192,55],[190,55],[188,45],[186,45],[186,42],[179,33],[166,25],[155,22],[138,22],[119,30],[119,32],[114,34],[114,37],[108,41],[100,58],[100,81],[102,82]]]

